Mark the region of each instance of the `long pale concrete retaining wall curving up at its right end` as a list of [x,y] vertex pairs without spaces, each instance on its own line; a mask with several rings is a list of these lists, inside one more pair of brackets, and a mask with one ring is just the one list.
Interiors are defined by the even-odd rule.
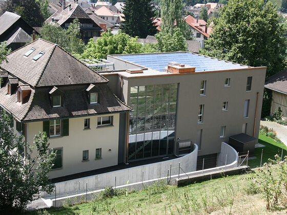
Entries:
[[[127,169],[121,169],[117,171],[111,171],[110,173],[99,174],[95,176],[89,176],[64,182],[55,183],[57,197],[66,197],[69,195],[76,195],[86,191],[86,185],[88,184],[88,190],[103,189],[108,186],[116,186],[138,183],[141,181],[149,181],[158,178],[164,178],[168,174],[168,170],[172,165],[171,175],[178,174],[178,163],[180,167],[186,172],[192,172],[196,170],[198,146],[194,144],[193,152],[186,156],[176,158],[173,160],[162,161],[158,163],[152,163],[142,166],[131,167]],[[142,173],[144,172],[144,178],[142,179]],[[180,171],[182,173],[182,171]],[[54,197],[55,193],[49,195],[46,192],[41,192],[41,197]]]

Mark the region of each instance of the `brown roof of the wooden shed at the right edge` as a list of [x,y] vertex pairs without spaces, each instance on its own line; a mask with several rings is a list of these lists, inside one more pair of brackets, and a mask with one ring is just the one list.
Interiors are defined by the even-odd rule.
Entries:
[[265,88],[287,94],[287,70],[276,73],[266,81]]

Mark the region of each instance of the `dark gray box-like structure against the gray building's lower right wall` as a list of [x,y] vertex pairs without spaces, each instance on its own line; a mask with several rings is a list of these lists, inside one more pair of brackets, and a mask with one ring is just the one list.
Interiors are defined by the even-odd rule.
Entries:
[[247,134],[238,134],[229,137],[229,145],[231,145],[237,152],[248,152],[249,156],[254,156],[255,141],[257,139],[247,135]]

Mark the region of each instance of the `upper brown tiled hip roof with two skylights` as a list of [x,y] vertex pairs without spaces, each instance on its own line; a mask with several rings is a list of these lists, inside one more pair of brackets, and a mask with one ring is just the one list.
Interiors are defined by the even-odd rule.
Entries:
[[[35,51],[25,57],[31,48]],[[33,60],[39,52],[44,55]],[[32,87],[108,82],[62,48],[43,39],[10,53],[7,60],[0,66]]]

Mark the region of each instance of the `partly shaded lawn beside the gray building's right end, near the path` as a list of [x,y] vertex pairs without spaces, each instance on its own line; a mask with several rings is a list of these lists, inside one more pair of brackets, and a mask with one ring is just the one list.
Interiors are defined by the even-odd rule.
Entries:
[[270,137],[264,136],[262,134],[259,134],[259,140],[258,142],[264,147],[258,147],[255,148],[255,157],[256,159],[250,159],[248,161],[248,165],[251,168],[259,167],[260,166],[260,160],[261,160],[261,152],[263,149],[263,156],[262,156],[262,164],[265,162],[268,162],[268,159],[274,159],[274,156],[278,154],[281,156],[282,148],[283,148],[283,157],[287,155],[287,147],[282,142],[276,142]]

